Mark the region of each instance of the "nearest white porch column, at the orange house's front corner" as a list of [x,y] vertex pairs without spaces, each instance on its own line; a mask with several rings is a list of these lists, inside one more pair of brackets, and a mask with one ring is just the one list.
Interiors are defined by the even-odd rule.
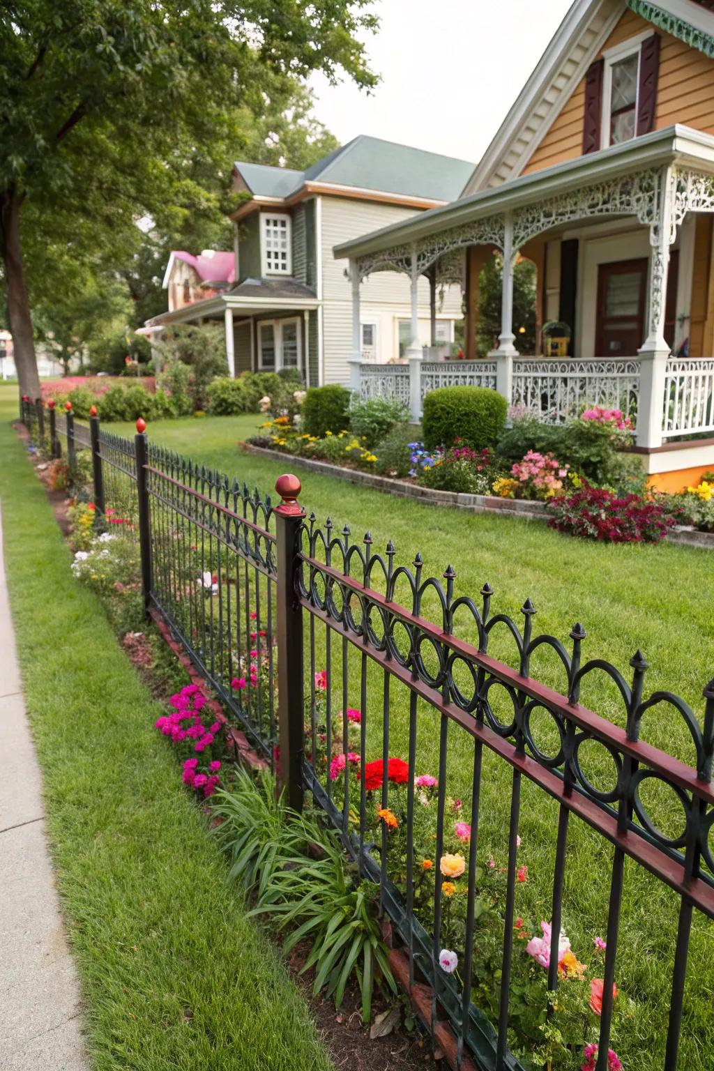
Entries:
[[640,390],[637,401],[637,446],[660,447],[665,405],[665,375],[669,346],[665,342],[665,305],[669,275],[669,248],[677,237],[674,196],[677,178],[671,167],[659,177],[657,217],[650,226],[650,274],[647,338],[638,350]]

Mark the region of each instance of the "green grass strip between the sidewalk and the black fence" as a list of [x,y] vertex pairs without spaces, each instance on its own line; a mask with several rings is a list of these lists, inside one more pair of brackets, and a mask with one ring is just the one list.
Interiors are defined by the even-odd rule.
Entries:
[[244,917],[162,712],[70,571],[0,389],[13,618],[95,1071],[329,1071],[309,1010]]

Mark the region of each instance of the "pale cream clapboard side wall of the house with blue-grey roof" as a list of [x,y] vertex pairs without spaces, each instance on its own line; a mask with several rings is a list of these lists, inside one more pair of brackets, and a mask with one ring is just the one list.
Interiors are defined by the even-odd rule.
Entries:
[[[358,238],[388,224],[407,220],[413,210],[375,201],[348,200],[343,197],[322,198],[322,343],[325,382],[349,381],[348,358],[352,351],[352,291],[345,272],[348,262],[333,257],[333,246]],[[429,286],[420,280],[420,337],[428,342]],[[461,318],[461,288],[450,286],[437,312],[442,317]],[[409,278],[401,272],[376,272],[364,281],[361,289],[361,319],[378,328],[377,359],[386,361],[396,356],[398,321],[411,315]]]

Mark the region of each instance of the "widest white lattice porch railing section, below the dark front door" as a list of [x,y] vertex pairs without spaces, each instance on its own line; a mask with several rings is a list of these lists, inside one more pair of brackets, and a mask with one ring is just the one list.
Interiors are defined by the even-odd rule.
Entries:
[[548,424],[562,424],[587,406],[636,417],[639,373],[635,360],[515,358],[511,404]]

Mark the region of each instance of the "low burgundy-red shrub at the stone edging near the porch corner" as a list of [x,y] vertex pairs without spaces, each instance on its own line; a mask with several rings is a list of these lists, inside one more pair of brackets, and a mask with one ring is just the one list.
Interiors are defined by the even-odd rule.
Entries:
[[610,543],[658,543],[674,524],[656,502],[638,495],[619,498],[614,492],[588,484],[574,495],[552,499],[549,509],[551,528]]

